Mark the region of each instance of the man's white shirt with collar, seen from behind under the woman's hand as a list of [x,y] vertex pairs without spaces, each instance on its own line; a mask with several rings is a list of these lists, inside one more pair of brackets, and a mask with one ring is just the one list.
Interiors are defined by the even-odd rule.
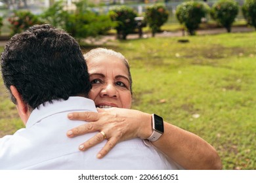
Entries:
[[68,129],[85,124],[68,120],[67,114],[75,111],[96,112],[95,103],[84,97],[70,97],[35,108],[25,129],[0,139],[0,169],[177,169],[140,139],[119,142],[102,159],[96,154],[106,140],[79,151],[79,144],[98,132],[68,138]]

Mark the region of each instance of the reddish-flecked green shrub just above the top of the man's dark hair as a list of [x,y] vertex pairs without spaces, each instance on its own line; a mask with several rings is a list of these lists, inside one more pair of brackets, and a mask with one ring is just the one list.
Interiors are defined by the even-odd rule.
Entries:
[[14,14],[8,18],[11,24],[11,35],[20,33],[35,24],[43,24],[39,16],[32,14],[28,10],[15,10]]

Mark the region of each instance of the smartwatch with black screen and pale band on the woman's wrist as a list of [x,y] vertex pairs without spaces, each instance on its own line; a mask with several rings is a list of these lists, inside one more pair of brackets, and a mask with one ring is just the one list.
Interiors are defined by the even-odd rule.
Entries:
[[152,114],[153,133],[148,137],[148,141],[157,141],[163,135],[163,118],[156,114]]

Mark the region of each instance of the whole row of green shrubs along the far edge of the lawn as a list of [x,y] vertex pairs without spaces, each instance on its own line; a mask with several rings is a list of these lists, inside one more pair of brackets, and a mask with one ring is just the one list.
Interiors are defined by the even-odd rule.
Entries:
[[[47,23],[65,29],[77,39],[104,35],[113,27],[117,31],[117,38],[126,39],[127,35],[135,32],[135,29],[142,29],[148,24],[154,36],[169,17],[169,12],[163,5],[146,7],[142,18],[138,18],[135,10],[125,6],[116,7],[106,15],[89,10],[85,0],[75,3],[75,6],[76,10],[64,10],[63,2],[58,1],[39,16],[29,11],[14,11],[8,18],[11,23],[11,34],[24,31],[34,24]],[[207,14],[230,32],[238,10],[239,5],[234,0],[217,1],[211,8],[202,1],[186,1],[177,6],[176,16],[190,35],[195,34]],[[242,12],[247,24],[256,28],[256,0],[245,0]],[[2,22],[3,18],[0,17],[0,27],[3,25]]]

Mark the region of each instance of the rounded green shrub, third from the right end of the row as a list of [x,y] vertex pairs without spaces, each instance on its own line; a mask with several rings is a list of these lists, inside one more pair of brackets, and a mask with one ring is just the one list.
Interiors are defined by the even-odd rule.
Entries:
[[186,27],[189,35],[195,35],[202,18],[205,18],[209,11],[207,4],[198,1],[188,1],[177,6],[176,16],[180,24]]

